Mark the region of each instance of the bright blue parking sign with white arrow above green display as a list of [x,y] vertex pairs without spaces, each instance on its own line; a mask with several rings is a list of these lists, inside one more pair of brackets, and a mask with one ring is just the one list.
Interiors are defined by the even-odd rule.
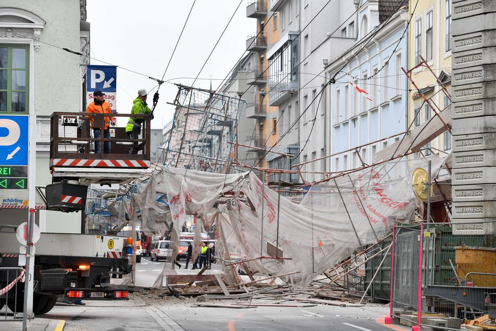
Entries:
[[0,115],[0,164],[28,165],[29,117]]

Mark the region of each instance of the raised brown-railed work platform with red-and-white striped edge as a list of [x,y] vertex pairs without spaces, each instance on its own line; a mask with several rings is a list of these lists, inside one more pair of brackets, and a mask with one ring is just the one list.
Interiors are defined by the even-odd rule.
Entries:
[[[138,139],[129,139],[125,128],[111,127],[111,137],[93,136],[95,128],[104,128],[104,114],[55,112],[51,118],[50,170],[54,182],[77,180],[88,184],[125,184],[145,176],[150,167],[150,116],[105,114],[105,117],[142,118]],[[110,116],[109,116],[110,115]],[[95,142],[101,151],[96,154]],[[104,154],[104,143],[110,141],[110,153]],[[132,142],[140,146],[138,154],[128,154]]]

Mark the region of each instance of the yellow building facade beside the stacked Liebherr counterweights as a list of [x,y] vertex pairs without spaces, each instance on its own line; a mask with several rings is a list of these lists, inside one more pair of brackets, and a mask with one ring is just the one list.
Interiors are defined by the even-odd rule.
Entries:
[[[421,57],[433,69],[441,83],[451,93],[451,0],[410,0],[409,14],[409,68],[422,62]],[[449,99],[440,90],[435,76],[426,66],[414,69],[411,77],[422,93],[440,110],[450,106]],[[434,116],[431,107],[410,83],[409,124],[412,128],[429,121]],[[446,155],[451,150],[451,135],[444,132],[427,144],[424,155]]]

